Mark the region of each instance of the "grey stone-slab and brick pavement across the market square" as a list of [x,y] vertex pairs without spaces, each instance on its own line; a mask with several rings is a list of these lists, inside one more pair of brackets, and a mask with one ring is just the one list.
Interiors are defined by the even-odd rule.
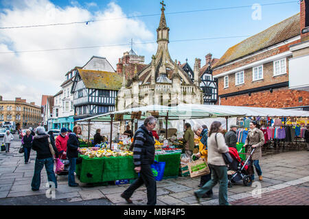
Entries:
[[[78,183],[71,188],[67,176],[58,177],[58,189],[54,198],[47,198],[47,175],[42,172],[41,188],[33,192],[30,187],[34,172],[35,151],[30,164],[24,164],[18,150],[21,140],[15,135],[10,153],[0,153],[0,205],[128,205],[120,194],[129,185],[97,185]],[[232,205],[309,205],[309,152],[287,151],[264,156],[260,160],[264,180],[255,181],[252,187],[242,182],[228,190]],[[258,177],[255,177],[258,179]],[[199,179],[178,177],[157,181],[157,205],[218,205],[218,185],[212,198],[201,198],[197,203],[194,190]],[[133,204],[146,205],[147,193],[143,186],[133,196]]]

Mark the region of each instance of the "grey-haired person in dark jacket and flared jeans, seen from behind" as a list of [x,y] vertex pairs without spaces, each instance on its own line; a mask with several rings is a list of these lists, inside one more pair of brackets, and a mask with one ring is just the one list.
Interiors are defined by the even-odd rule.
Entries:
[[56,145],[50,141],[49,135],[45,133],[44,127],[36,128],[36,136],[33,138],[32,149],[36,151],[36,163],[34,164],[34,175],[32,178],[32,191],[40,189],[41,185],[41,171],[45,166],[47,172],[47,179],[49,182],[54,182],[57,188],[57,179],[54,172],[54,155],[52,154],[49,144],[52,144],[55,156],[58,157]]

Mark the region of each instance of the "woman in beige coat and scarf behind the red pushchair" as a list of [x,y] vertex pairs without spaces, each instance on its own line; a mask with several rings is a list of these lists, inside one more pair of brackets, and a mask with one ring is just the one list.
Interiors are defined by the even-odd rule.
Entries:
[[[249,154],[253,149],[255,149],[255,151],[252,154],[252,160],[260,181],[262,181],[263,177],[259,160],[262,158],[262,146],[264,145],[264,142],[265,139],[263,131],[258,129],[257,123],[255,121],[251,121],[250,130],[248,131],[248,136],[246,138],[244,146],[251,145],[251,147],[249,147],[248,149]],[[252,181],[254,181],[254,174],[252,175]]]

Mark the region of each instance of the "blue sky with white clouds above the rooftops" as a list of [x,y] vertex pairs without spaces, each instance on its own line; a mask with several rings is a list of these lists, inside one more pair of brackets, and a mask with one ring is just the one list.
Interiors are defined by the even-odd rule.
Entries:
[[[187,59],[192,68],[196,57],[203,66],[208,53],[220,58],[234,44],[299,12],[297,0],[165,0],[164,3],[172,60],[184,63]],[[270,3],[281,4],[264,5]],[[260,11],[251,7],[254,4],[261,5]],[[137,43],[133,44],[133,50],[144,55],[148,64],[157,51],[160,14],[159,0],[0,0],[0,27],[104,20],[0,29],[0,95],[3,100],[21,97],[27,103],[34,101],[41,105],[42,94],[56,94],[65,74],[75,66],[84,66],[93,55],[106,57],[116,69],[119,57],[130,50],[131,38]],[[16,53],[76,47],[96,48]]]

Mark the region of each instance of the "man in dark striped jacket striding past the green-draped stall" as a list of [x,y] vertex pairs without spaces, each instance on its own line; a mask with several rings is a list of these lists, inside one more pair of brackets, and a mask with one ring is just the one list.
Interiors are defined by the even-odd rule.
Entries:
[[157,203],[157,184],[151,170],[151,164],[155,161],[155,140],[152,136],[152,129],[155,129],[157,119],[149,116],[135,133],[133,144],[133,160],[135,172],[139,172],[139,178],[135,180],[130,187],[121,194],[122,198],[128,203],[132,203],[130,196],[141,185],[145,183],[147,188],[147,205],[156,205]]

